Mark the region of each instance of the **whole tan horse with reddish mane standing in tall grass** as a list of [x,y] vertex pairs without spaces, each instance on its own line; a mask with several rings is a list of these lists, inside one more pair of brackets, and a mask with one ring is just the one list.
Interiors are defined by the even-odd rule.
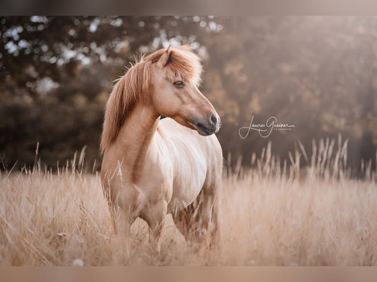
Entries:
[[106,105],[102,187],[113,216],[148,223],[150,245],[168,213],[184,235],[218,237],[220,117],[197,88],[201,72],[189,47],[169,46],[131,66]]

